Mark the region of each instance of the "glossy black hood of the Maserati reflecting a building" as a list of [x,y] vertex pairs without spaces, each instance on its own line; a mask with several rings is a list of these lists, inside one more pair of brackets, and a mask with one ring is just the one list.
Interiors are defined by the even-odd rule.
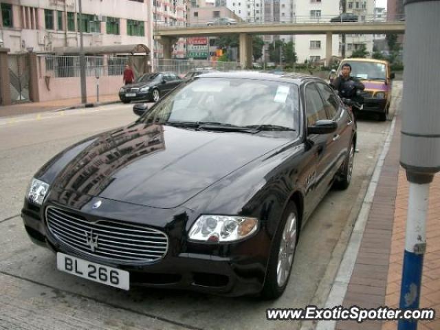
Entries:
[[175,208],[290,140],[134,123],[98,135],[61,170],[54,186],[78,195]]

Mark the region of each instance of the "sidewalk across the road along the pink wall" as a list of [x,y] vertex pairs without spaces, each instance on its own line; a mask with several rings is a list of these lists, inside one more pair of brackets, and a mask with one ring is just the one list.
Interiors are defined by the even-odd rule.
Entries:
[[[102,95],[99,97],[99,104],[109,104],[113,102],[120,102],[118,94]],[[87,98],[87,105],[89,106],[89,104],[91,104],[91,107],[97,105],[96,96],[89,96]],[[45,102],[27,102],[1,106],[0,117],[26,115],[29,113],[56,111],[59,109],[69,109],[83,106],[84,104],[81,104],[81,98],[66,98],[63,100],[52,100]]]

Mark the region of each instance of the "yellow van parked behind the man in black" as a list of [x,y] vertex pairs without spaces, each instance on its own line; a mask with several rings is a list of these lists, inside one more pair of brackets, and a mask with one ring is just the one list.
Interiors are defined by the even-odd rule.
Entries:
[[391,104],[391,80],[395,77],[390,63],[373,58],[344,58],[338,67],[338,75],[345,63],[351,65],[351,76],[359,78],[365,86],[362,112],[378,113],[381,121],[386,120]]

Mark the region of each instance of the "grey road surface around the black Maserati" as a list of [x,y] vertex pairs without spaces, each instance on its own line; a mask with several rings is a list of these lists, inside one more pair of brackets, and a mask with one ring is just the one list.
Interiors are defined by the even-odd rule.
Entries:
[[[391,115],[399,105],[396,82]],[[285,294],[276,301],[158,289],[131,292],[56,270],[50,250],[33,245],[19,216],[32,175],[84,137],[135,120],[130,104],[0,120],[0,329],[298,329],[267,321],[267,308],[323,303],[360,210],[391,121],[358,121],[353,181],[331,191],[300,237]]]

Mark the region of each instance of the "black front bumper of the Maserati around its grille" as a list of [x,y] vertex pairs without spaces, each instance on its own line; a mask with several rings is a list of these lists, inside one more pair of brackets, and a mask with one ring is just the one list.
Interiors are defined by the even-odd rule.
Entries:
[[132,286],[190,289],[221,296],[258,294],[263,287],[270,239],[261,228],[245,241],[219,245],[189,242],[181,233],[177,234],[179,225],[170,228],[167,223],[160,228],[169,240],[168,252],[163,259],[144,265],[118,265],[96,256],[85,256],[57,241],[47,229],[42,211],[25,201],[21,212],[26,232],[34,243],[54,252],[126,270],[130,272]]

